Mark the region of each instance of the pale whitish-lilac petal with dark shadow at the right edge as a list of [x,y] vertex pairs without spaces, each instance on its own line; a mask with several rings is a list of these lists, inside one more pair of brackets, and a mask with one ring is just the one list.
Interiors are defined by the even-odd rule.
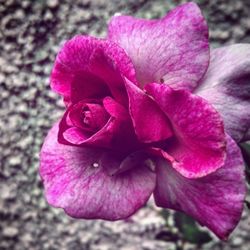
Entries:
[[234,140],[249,140],[250,44],[212,50],[210,66],[196,93],[219,111]]

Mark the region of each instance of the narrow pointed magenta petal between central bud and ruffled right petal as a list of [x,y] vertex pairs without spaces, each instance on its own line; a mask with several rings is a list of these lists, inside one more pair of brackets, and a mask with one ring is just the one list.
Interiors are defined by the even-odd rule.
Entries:
[[155,101],[129,80],[126,80],[126,89],[138,139],[148,143],[172,136],[170,122]]

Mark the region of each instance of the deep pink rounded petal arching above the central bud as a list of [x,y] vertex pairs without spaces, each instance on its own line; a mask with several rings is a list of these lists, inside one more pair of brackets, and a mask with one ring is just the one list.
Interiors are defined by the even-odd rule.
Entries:
[[51,87],[75,103],[106,96],[109,88],[111,93],[119,93],[123,86],[119,74],[136,82],[133,65],[122,48],[112,41],[79,35],[67,41],[58,53]]

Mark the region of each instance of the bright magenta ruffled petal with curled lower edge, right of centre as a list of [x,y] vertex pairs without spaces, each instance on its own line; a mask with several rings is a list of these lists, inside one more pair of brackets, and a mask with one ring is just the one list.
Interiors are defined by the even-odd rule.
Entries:
[[163,148],[173,156],[176,170],[187,178],[214,172],[224,164],[226,139],[218,112],[204,99],[165,84],[148,84],[153,96],[172,123],[175,138]]

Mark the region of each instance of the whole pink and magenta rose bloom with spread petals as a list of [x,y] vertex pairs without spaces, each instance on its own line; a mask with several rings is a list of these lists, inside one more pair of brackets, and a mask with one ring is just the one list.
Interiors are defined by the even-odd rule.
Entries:
[[236,142],[250,139],[249,77],[250,45],[209,52],[194,3],[159,20],[113,17],[107,39],[69,40],[51,74],[66,112],[40,156],[48,202],[118,220],[153,194],[226,239],[246,193]]

